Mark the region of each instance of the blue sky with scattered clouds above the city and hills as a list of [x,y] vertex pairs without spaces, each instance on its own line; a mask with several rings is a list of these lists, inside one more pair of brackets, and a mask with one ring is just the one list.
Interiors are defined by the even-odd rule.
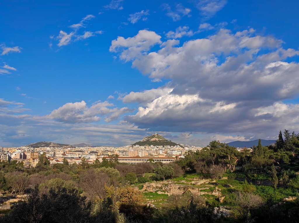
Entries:
[[299,132],[299,1],[1,1],[0,146]]

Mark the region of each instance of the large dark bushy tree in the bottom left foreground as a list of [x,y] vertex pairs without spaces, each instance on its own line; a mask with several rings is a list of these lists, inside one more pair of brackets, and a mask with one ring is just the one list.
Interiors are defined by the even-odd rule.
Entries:
[[19,201],[10,215],[12,222],[87,222],[90,203],[78,188],[69,188],[61,179],[51,179]]

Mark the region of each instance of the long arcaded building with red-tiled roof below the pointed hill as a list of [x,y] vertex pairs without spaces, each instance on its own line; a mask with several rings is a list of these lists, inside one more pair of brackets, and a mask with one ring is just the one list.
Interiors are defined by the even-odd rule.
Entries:
[[[105,157],[107,160],[113,159],[112,157]],[[163,164],[175,161],[174,157],[118,157],[118,162],[126,162],[128,164],[138,164],[143,162],[149,162],[149,159],[153,159],[154,162],[162,162]]]

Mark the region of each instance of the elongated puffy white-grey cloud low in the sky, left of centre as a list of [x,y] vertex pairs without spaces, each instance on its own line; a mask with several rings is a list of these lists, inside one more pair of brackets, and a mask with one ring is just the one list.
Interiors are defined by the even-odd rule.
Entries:
[[[110,114],[111,118],[107,119],[109,121],[115,120],[119,115],[128,112],[127,108],[109,108],[113,107],[112,103],[107,101],[95,102],[92,106],[88,107],[85,101],[66,103],[58,109],[55,109],[51,114],[45,115],[42,118],[53,119],[59,122],[65,123],[89,123],[96,122],[100,120],[100,116]],[[119,112],[122,111],[122,112]],[[119,114],[117,116],[117,114]],[[37,117],[38,118],[38,117]]]

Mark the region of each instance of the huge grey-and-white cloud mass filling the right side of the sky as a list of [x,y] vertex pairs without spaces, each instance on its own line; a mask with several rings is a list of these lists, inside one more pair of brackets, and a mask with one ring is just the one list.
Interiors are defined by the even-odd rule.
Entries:
[[[283,41],[256,35],[253,29],[220,29],[178,46],[178,40],[161,42],[155,32],[143,32],[150,32],[155,41],[141,47],[147,38],[118,37],[111,51],[150,78],[170,82],[120,97],[142,104],[135,115],[126,116],[127,122],[154,131],[269,132],[273,137],[287,126],[299,128],[297,106],[277,104],[299,94],[299,65],[286,62],[299,51],[283,49]],[[152,48],[155,45],[160,49]],[[283,112],[273,112],[275,106]],[[291,119],[286,118],[288,110],[294,111]]]

